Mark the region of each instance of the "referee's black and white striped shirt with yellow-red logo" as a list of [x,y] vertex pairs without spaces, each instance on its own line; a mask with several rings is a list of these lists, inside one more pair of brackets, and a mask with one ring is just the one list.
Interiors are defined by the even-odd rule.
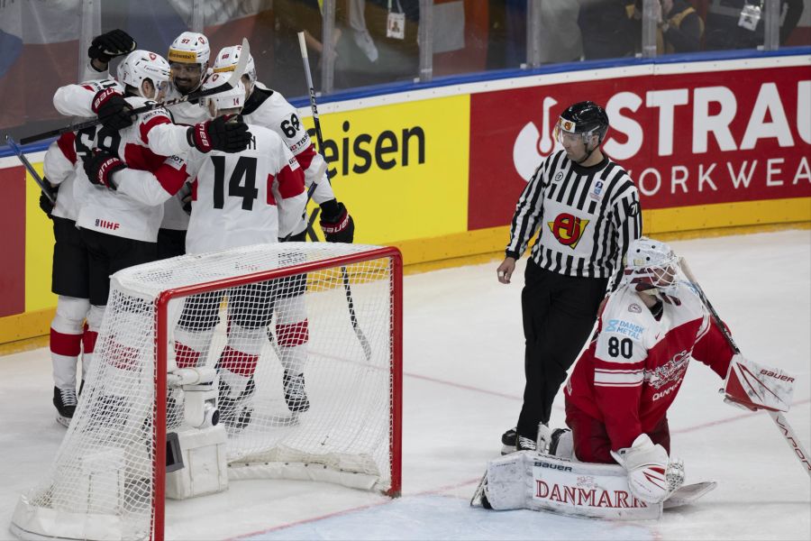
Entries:
[[542,269],[610,278],[642,234],[636,186],[612,160],[586,168],[555,152],[518,198],[506,255],[521,257],[539,229],[532,258]]

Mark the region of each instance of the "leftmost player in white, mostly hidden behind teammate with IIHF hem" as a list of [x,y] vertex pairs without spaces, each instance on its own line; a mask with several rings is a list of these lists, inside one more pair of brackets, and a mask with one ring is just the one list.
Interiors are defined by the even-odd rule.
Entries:
[[[96,335],[87,331],[90,310],[87,248],[76,228],[77,203],[73,197],[76,179],[74,133],[63,133],[45,152],[45,181],[57,196],[51,204],[44,192],[40,207],[53,221],[53,273],[51,291],[57,298],[50,322],[50,359],[53,365],[53,405],[57,421],[68,426],[77,406],[77,364],[82,352],[82,383],[90,366]],[[81,387],[79,387],[81,389]]]

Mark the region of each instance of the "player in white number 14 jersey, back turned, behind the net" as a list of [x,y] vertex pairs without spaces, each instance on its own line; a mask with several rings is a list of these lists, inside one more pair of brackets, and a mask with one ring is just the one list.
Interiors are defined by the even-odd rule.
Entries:
[[[227,73],[215,73],[205,86],[218,86],[228,77]],[[205,106],[213,116],[238,114],[245,101],[244,92],[241,82],[237,82],[232,90],[205,98]],[[252,142],[238,154],[188,154],[188,173],[196,178],[187,235],[190,254],[275,243],[293,232],[301,219],[306,192],[298,162],[276,133],[252,124],[249,130]],[[230,289],[226,294],[228,341],[217,362],[218,407],[226,425],[241,428],[250,421],[253,373],[274,305],[283,302],[283,290],[289,282],[271,280]],[[178,368],[205,361],[219,306],[220,294],[187,299],[175,332]],[[309,404],[304,395],[303,365],[285,362],[283,359],[287,406],[291,411],[304,411]]]

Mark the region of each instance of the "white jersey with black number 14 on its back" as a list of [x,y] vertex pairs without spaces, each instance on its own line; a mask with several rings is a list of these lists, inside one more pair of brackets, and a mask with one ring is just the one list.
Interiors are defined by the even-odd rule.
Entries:
[[248,127],[252,139],[244,151],[187,155],[193,179],[187,253],[276,243],[301,220],[307,202],[303,170],[277,133]]

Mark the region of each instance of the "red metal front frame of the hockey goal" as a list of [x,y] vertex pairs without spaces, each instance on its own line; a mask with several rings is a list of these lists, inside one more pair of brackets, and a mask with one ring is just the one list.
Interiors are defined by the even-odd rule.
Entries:
[[167,400],[167,357],[169,350],[169,301],[175,298],[208,293],[217,289],[235,288],[257,281],[276,280],[296,274],[315,271],[329,267],[345,267],[353,263],[389,258],[391,261],[391,396],[389,408],[391,416],[391,437],[389,442],[391,488],[386,494],[392,498],[400,496],[402,490],[402,432],[403,432],[403,255],[394,247],[378,248],[368,252],[333,257],[323,261],[314,261],[292,265],[271,271],[260,271],[246,274],[229,280],[214,280],[194,286],[187,286],[162,291],[156,299],[155,310],[155,403],[153,404],[155,423],[153,424],[153,454],[155,457],[153,471],[152,501],[153,514],[150,528],[150,539],[164,541],[166,525],[166,400]]

